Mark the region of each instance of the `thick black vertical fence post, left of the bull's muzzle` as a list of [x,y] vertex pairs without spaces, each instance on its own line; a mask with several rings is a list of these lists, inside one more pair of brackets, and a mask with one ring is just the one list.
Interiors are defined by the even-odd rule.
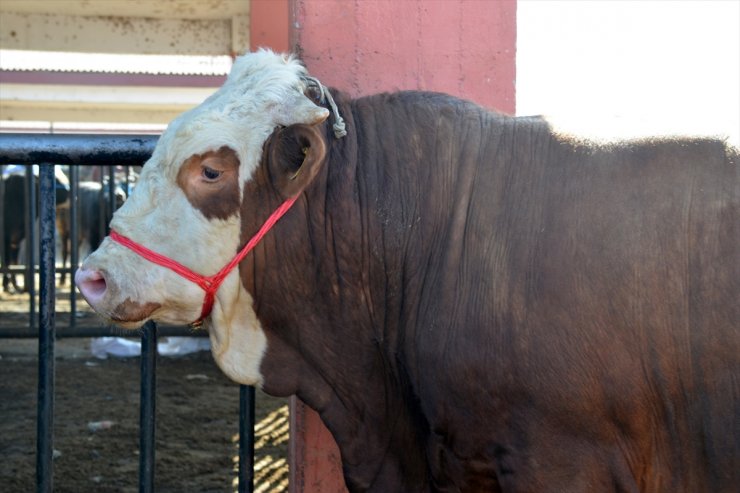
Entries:
[[[40,166],[40,325],[39,325],[39,374],[36,419],[36,491],[51,492],[54,485],[54,217],[56,190],[54,165]],[[35,187],[34,187],[35,188]],[[32,216],[33,217],[33,216]]]

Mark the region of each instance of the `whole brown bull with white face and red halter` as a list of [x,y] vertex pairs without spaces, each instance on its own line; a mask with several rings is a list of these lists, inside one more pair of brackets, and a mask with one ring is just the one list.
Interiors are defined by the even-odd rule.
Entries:
[[736,148],[334,95],[238,59],[77,272],[94,309],[204,320],[230,378],[319,412],[351,491],[736,491]]

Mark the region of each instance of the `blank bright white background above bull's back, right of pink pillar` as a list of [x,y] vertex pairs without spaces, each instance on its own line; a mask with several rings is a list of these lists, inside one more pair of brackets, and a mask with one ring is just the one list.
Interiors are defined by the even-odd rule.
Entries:
[[740,145],[740,1],[520,0],[517,113]]

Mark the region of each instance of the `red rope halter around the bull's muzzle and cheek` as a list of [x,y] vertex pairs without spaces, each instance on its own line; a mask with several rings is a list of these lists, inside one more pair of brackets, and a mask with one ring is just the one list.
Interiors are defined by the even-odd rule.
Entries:
[[290,207],[295,203],[296,199],[298,199],[298,196],[291,197],[283,202],[280,207],[275,209],[275,212],[273,212],[270,217],[267,218],[267,221],[265,221],[265,223],[252,237],[252,239],[249,240],[246,245],[244,245],[244,248],[239,250],[239,252],[234,256],[233,259],[231,259],[231,262],[226,264],[223,269],[212,276],[203,276],[197,274],[184,265],[168,257],[165,257],[164,255],[160,255],[155,251],[149,250],[147,247],[140,245],[135,241],[126,238],[125,236],[121,236],[113,230],[111,230],[110,232],[110,239],[117,243],[120,243],[125,247],[130,248],[150,262],[175,271],[188,281],[191,281],[200,286],[200,288],[206,292],[205,298],[203,299],[203,309],[200,312],[200,317],[198,317],[198,320],[190,324],[191,326],[198,328],[203,325],[203,319],[210,315],[211,310],[213,309],[213,301],[216,296],[216,291],[218,291],[219,286],[221,286],[221,283],[224,281],[224,279],[226,279],[226,276],[229,274],[229,272],[231,272],[234,267],[239,265],[239,262],[241,262],[244,257],[246,257],[247,254],[252,251],[252,249],[257,245],[257,243],[259,243],[262,237],[264,237],[267,232],[270,231],[270,229],[275,225],[275,223],[278,222],[278,220],[283,217],[286,212],[288,212],[288,209],[290,209]]

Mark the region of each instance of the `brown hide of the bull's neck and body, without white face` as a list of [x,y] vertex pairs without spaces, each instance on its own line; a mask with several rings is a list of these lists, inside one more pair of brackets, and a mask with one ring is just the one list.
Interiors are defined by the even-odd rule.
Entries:
[[[736,491],[736,150],[338,102],[348,135],[319,127],[325,162],[241,275],[265,389],[320,412],[350,490]],[[244,241],[282,201],[270,170],[300,166],[275,142]]]

